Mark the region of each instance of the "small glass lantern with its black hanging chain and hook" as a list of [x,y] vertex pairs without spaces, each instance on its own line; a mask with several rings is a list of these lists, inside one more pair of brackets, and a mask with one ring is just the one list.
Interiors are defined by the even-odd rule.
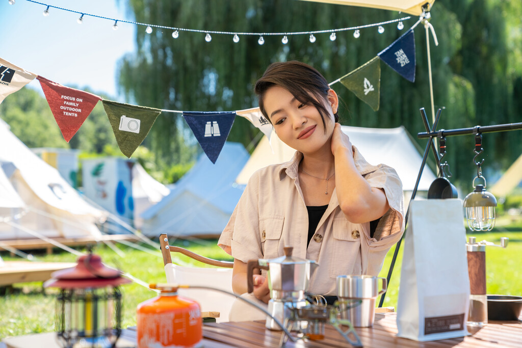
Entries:
[[[475,136],[475,157],[473,162],[477,165],[477,176],[473,179],[472,185],[474,190],[464,199],[464,208],[466,210],[466,220],[468,227],[472,231],[491,231],[495,226],[495,207],[496,198],[492,193],[486,191],[486,179],[482,176],[481,162],[477,161],[477,157],[482,153],[482,135],[477,133]],[[475,179],[482,179],[484,185],[475,185]]]

